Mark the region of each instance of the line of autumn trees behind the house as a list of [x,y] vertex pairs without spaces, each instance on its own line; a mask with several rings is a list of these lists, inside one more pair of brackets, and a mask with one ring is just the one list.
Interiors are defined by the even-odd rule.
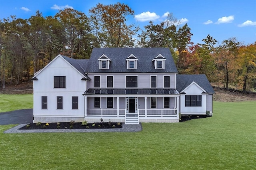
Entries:
[[256,42],[244,45],[232,37],[218,43],[208,35],[194,44],[191,28],[172,13],[139,28],[128,24],[134,11],[120,3],[99,3],[89,15],[66,8],[55,16],[36,11],[29,19],[0,20],[0,87],[29,81],[59,53],[88,59],[94,47],[168,47],[180,74],[206,74],[218,87],[244,93],[256,90]]

